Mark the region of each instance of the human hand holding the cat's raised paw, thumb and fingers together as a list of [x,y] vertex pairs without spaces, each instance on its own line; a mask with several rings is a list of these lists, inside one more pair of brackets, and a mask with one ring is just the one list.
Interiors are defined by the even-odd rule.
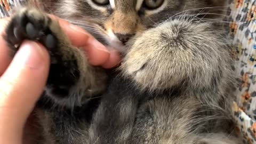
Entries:
[[[46,84],[50,57],[41,44],[25,41],[11,60],[2,37],[7,21],[0,20],[0,143],[30,144],[36,131],[28,117]],[[119,62],[116,51],[108,51],[83,29],[63,20],[60,25],[75,46],[84,47],[92,65],[111,68]]]

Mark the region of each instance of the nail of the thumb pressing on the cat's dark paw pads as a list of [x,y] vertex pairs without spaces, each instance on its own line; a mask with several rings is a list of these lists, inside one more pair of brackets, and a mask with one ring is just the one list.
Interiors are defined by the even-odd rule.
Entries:
[[43,47],[35,42],[25,41],[21,44],[20,49],[14,60],[19,62],[22,67],[39,68],[43,62]]

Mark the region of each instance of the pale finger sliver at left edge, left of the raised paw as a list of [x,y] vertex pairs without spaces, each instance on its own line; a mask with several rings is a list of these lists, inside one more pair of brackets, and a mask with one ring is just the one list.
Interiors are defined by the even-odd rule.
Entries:
[[9,19],[0,19],[0,76],[4,73],[5,69],[11,62],[9,57],[9,50],[7,48],[7,44],[3,38],[4,29],[9,22]]

